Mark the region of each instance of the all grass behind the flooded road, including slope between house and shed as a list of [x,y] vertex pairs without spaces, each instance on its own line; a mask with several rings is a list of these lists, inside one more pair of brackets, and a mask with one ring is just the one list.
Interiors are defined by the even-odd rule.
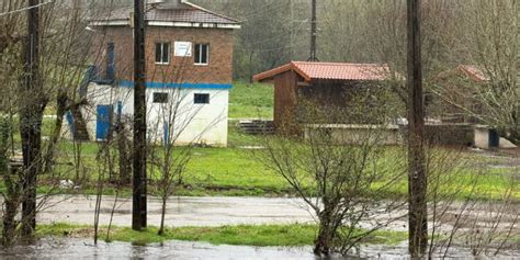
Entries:
[[[229,117],[272,117],[273,106],[273,89],[269,84],[247,84],[237,82],[230,91]],[[16,124],[18,120],[15,121]],[[44,120],[44,135],[48,135],[53,128],[54,120]],[[18,126],[14,127],[18,129]],[[20,135],[15,135],[16,138]],[[229,123],[228,147],[227,148],[193,148],[192,160],[188,165],[184,173],[184,184],[174,189],[174,195],[201,196],[201,195],[240,195],[240,196],[280,196],[285,194],[294,194],[292,188],[287,182],[274,171],[259,162],[252,152],[245,149],[245,146],[260,146],[261,137],[245,135],[239,132],[236,122]],[[18,140],[18,145],[20,142]],[[74,151],[81,149],[81,166],[79,171],[76,171],[74,161]],[[58,146],[56,156],[57,163],[55,163],[55,173],[59,176],[58,179],[77,179],[79,176],[84,176],[86,179],[81,186],[76,192],[95,194],[97,180],[100,172],[101,162],[97,159],[100,150],[100,144],[83,143],[75,147],[70,142],[61,142]],[[449,150],[449,149],[446,149]],[[115,150],[114,150],[115,151]],[[406,170],[406,159],[404,159],[403,148],[387,147],[381,166],[384,168],[388,165],[402,163],[400,170]],[[456,154],[456,152],[454,152]],[[508,186],[511,185],[511,180],[517,178],[518,168],[500,168],[488,167],[489,165],[501,165],[499,158],[485,158],[478,154],[463,152],[462,157],[465,160],[471,160],[466,169],[456,170],[450,173],[452,178],[441,186],[441,191],[457,189],[456,194],[460,199],[470,195],[479,199],[500,199]],[[456,158],[453,158],[453,160]],[[488,168],[486,168],[488,167]],[[485,173],[478,178],[476,186],[473,190],[471,186],[460,189],[459,183],[468,182],[475,174],[485,169]],[[151,172],[151,171],[149,171]],[[149,192],[157,194],[154,181],[158,179],[159,171],[154,171],[150,176]],[[103,180],[108,180],[104,177]],[[56,193],[71,193],[72,190],[52,189],[53,184],[48,177],[42,176],[39,178],[41,185],[38,191],[41,193],[56,192]],[[56,179],[54,180],[56,183]],[[377,183],[375,183],[376,185]],[[517,181],[518,186],[518,181]],[[0,192],[3,191],[3,182],[0,182]],[[308,190],[313,185],[308,184]],[[115,194],[116,186],[105,181],[103,188],[104,194]],[[397,185],[388,191],[389,196],[405,196],[407,194],[406,176],[398,180]],[[131,195],[129,188],[120,188],[121,195]],[[517,199],[520,199],[519,189],[515,193]]]

